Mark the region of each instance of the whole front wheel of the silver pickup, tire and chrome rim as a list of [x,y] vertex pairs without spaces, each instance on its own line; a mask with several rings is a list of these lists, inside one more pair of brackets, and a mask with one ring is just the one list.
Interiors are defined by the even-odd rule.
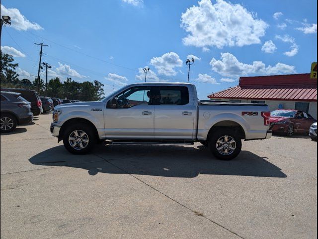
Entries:
[[90,152],[96,142],[96,136],[91,126],[75,124],[64,133],[63,144],[73,154],[85,154]]

